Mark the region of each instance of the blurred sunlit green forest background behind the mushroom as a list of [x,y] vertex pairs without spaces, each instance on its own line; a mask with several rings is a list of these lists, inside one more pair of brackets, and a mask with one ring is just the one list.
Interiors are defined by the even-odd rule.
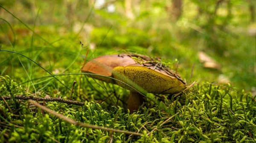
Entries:
[[[22,53],[53,74],[79,73],[87,48],[87,60],[136,52],[178,67],[186,81],[195,63],[190,83],[230,83],[235,90],[256,92],[255,0],[0,0],[0,5],[2,50]],[[21,83],[49,74],[1,51],[4,75]],[[61,78],[72,86],[74,79]],[[42,82],[34,83],[37,90],[54,89],[55,83]],[[34,90],[30,83],[23,86]]]

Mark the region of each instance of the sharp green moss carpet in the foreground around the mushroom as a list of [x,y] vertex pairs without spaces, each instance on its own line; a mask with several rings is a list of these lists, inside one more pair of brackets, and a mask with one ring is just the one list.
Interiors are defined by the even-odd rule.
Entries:
[[[6,82],[0,88],[0,95],[6,93],[6,86],[15,87],[14,91],[17,93],[24,90],[15,82]],[[256,102],[251,93],[237,94],[221,87],[202,84],[192,87],[192,90],[184,93],[182,98],[163,97],[166,100],[161,101],[159,105],[147,101],[133,114],[125,113],[121,107],[104,109],[104,102],[98,104],[91,101],[86,102],[84,106],[45,103],[49,109],[76,121],[131,132],[141,130],[143,133],[142,136],[131,138],[118,132],[70,125],[46,112],[43,114],[41,109],[28,109],[27,104],[18,103],[20,106],[16,106],[15,100],[7,100],[13,111],[10,114],[6,104],[0,101],[0,138],[9,142],[52,142],[54,139],[59,142],[83,140],[86,143],[106,143],[112,136],[114,142],[138,143],[256,141]],[[175,113],[178,114],[160,126]],[[145,128],[142,128],[143,125]],[[145,129],[150,132],[155,128],[157,130],[151,136],[147,136]]]

